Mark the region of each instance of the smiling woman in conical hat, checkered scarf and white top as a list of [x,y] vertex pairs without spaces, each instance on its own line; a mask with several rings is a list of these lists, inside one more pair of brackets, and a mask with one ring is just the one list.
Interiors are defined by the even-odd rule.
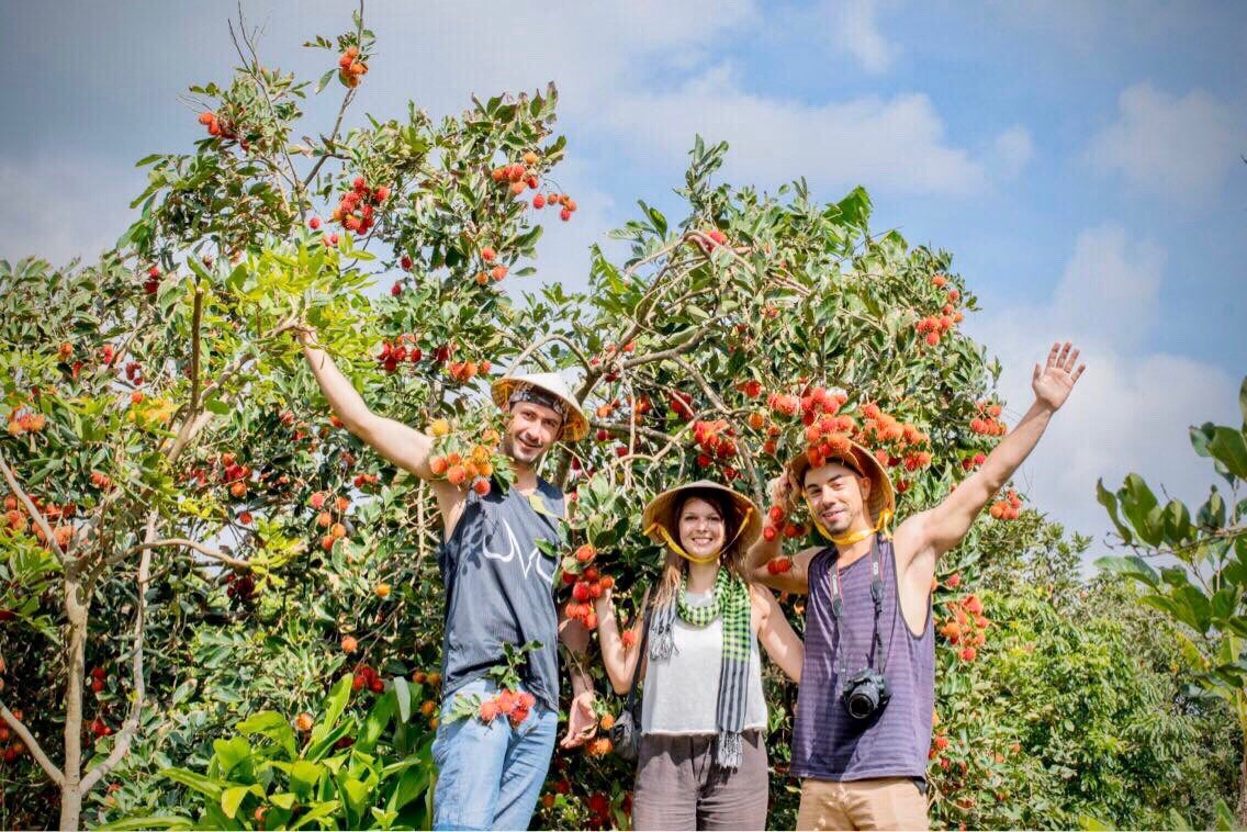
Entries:
[[[597,600],[602,662],[626,694],[642,661],[635,828],[764,828],[767,760],[758,644],[794,681],[803,649],[774,596],[744,579],[762,518],[752,500],[700,480],[655,498],[646,534],[667,546],[662,576],[625,646],[610,590]],[[646,641],[645,655],[640,642]]]

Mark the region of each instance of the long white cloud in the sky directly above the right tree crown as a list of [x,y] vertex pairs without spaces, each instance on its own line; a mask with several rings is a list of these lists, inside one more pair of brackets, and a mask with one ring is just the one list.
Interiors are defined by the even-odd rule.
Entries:
[[[984,160],[945,141],[943,120],[920,94],[809,105],[747,92],[721,64],[667,92],[624,94],[605,115],[667,160],[682,160],[695,133],[727,140],[728,168],[763,185],[797,172],[831,187],[903,193],[964,195],[989,185]],[[1001,138],[1014,165],[1029,146],[1018,131]]]

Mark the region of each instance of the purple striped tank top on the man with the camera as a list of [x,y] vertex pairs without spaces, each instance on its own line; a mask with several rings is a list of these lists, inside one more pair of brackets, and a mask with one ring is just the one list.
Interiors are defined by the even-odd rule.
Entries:
[[[900,614],[897,559],[890,540],[879,540],[883,568],[883,609],[879,635],[887,655],[884,676],[892,700],[869,720],[855,720],[840,704],[843,680],[835,654],[831,580],[834,546],[809,561],[809,599],[806,605],[806,661],[801,669],[797,716],[793,726],[792,773],[818,780],[927,776],[927,752],[935,710],[935,636],[930,597],[922,636],[909,631]],[[844,625],[839,641],[852,676],[867,666],[872,647],[874,605],[870,601],[870,558],[840,569]],[[875,670],[879,661],[875,661]]]

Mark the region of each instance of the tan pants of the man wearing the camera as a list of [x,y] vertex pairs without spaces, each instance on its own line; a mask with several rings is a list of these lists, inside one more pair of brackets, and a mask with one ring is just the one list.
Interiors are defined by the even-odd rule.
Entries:
[[912,777],[804,780],[798,830],[925,830],[927,798]]

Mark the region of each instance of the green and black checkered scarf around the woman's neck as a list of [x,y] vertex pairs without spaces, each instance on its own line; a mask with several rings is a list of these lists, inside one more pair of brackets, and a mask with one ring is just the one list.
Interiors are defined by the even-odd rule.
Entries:
[[707,626],[715,619],[723,617],[723,657],[718,666],[718,704],[715,713],[718,728],[716,762],[725,768],[737,768],[743,753],[741,728],[744,726],[749,679],[749,588],[729,569],[721,566],[715,578],[711,602],[692,606],[685,597],[687,585],[688,578],[685,576],[676,596],[653,611],[650,622],[650,657],[671,659],[676,649],[672,629],[677,615],[685,624],[695,627]]

